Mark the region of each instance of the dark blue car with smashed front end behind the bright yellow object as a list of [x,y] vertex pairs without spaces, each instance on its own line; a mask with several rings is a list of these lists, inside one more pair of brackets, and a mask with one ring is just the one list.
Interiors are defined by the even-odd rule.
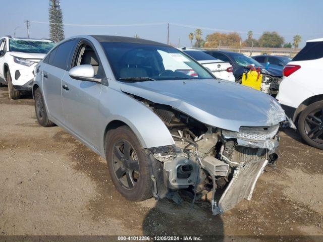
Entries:
[[242,82],[242,74],[248,72],[251,67],[261,68],[262,85],[261,91],[270,95],[276,95],[279,84],[282,80],[282,73],[274,68],[265,69],[255,59],[241,53],[220,50],[206,50],[205,53],[212,55],[224,62],[229,62],[233,66],[233,75],[237,83]]

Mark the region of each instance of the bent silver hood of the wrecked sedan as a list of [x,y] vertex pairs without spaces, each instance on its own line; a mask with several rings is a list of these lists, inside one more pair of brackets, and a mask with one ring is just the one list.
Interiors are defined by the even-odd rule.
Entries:
[[273,97],[224,80],[121,83],[121,90],[170,105],[206,125],[236,132],[241,126],[270,127],[286,119]]

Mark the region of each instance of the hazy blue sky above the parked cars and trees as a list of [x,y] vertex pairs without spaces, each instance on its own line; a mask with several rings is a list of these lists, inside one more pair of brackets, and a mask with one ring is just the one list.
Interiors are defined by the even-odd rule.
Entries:
[[[2,0],[4,1],[4,0]],[[47,0],[14,0],[2,4],[0,37],[14,35],[26,37],[25,21],[48,22]],[[191,25],[211,29],[237,31],[242,39],[252,30],[254,38],[263,31],[277,31],[292,42],[293,36],[305,41],[323,37],[323,1],[321,0],[271,0],[257,2],[217,0],[61,0],[65,24],[118,25],[165,23],[156,26],[84,27],[65,26],[65,37],[80,34],[106,34],[130,36],[167,43],[167,24],[170,23],[170,42],[190,46],[188,34],[194,28],[176,26]],[[173,24],[172,24],[173,23]],[[202,30],[203,37],[214,31]],[[225,33],[225,32],[224,32]],[[32,23],[30,37],[48,38],[47,24]]]

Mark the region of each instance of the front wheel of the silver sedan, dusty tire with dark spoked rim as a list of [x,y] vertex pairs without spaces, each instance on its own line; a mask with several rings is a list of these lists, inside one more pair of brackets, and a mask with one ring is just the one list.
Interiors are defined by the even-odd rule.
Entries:
[[152,196],[150,163],[136,135],[128,126],[121,126],[107,132],[105,144],[106,161],[117,190],[131,201],[150,198]]

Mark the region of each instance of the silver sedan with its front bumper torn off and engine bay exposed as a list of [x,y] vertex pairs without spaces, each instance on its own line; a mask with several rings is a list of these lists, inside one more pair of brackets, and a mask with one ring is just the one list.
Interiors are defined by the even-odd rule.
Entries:
[[[172,46],[118,36],[59,43],[35,68],[33,96],[38,123],[63,127],[105,157],[127,199],[180,203],[179,190],[213,190],[214,214],[251,199],[278,157],[286,118],[273,97],[215,80]],[[219,189],[225,193],[216,203]]]

